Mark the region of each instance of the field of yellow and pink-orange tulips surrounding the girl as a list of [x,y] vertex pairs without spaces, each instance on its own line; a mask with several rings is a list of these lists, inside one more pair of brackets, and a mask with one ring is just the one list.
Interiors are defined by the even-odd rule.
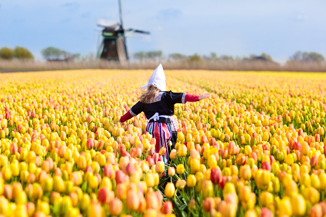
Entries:
[[0,217],[326,215],[325,74],[166,70],[211,97],[158,153],[143,113],[118,122],[151,74],[0,74]]

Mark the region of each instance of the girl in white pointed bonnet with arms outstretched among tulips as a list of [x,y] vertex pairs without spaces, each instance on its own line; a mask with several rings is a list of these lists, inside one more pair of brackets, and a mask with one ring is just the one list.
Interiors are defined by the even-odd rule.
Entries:
[[162,147],[166,148],[166,152],[159,157],[159,160],[168,163],[168,142],[171,140],[175,144],[178,130],[178,123],[172,117],[174,104],[200,101],[210,97],[210,94],[204,93],[198,96],[166,91],[165,82],[163,67],[159,64],[149,78],[148,84],[141,87],[142,93],[138,98],[139,101],[121,116],[119,122],[125,122],[144,112],[148,119],[146,131],[156,139],[155,152],[158,153]]

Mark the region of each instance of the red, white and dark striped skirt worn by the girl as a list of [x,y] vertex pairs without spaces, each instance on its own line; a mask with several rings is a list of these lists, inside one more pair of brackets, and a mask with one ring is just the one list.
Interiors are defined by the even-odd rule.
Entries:
[[158,123],[152,122],[147,124],[146,131],[149,132],[153,138],[156,139],[155,152],[158,153],[162,147],[166,148],[164,155],[160,156],[159,159],[165,164],[168,163],[169,149],[168,142],[171,139],[171,124],[170,123]]

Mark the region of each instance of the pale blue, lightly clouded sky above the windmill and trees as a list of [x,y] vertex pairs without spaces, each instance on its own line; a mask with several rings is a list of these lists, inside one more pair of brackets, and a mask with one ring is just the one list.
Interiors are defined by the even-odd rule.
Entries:
[[[151,32],[129,37],[130,53],[265,52],[282,63],[300,50],[326,58],[323,0],[122,0],[122,8],[126,28]],[[99,18],[119,21],[118,0],[0,0],[0,47],[26,47],[38,60],[49,46],[95,54]]]

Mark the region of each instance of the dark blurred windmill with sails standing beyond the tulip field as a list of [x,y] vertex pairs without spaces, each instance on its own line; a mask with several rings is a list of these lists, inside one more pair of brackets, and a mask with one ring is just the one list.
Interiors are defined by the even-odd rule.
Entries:
[[133,33],[150,34],[148,31],[138,29],[125,29],[123,27],[121,0],[119,3],[120,23],[99,19],[97,25],[103,27],[102,42],[98,47],[97,58],[126,61],[129,59],[126,46],[126,37]]

